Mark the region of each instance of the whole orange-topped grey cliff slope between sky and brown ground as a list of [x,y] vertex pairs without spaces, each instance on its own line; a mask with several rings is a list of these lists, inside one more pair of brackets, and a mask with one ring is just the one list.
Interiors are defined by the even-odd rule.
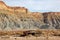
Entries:
[[0,2],[0,30],[60,29],[60,12],[28,12]]

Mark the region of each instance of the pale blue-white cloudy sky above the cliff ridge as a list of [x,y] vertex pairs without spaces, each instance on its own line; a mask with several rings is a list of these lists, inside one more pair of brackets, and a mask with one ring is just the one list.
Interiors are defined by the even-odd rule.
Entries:
[[60,12],[60,0],[3,0],[9,6],[26,7],[32,12]]

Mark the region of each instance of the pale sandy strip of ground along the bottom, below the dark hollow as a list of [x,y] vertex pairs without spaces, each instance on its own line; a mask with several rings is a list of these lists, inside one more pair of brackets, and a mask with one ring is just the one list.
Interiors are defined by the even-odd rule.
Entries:
[[60,40],[60,37],[0,37],[0,40]]

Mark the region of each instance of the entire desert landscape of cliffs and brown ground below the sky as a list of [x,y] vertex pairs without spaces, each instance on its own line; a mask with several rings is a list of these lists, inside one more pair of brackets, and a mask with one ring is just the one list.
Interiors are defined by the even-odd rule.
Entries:
[[0,1],[0,40],[60,40],[60,12],[30,12]]

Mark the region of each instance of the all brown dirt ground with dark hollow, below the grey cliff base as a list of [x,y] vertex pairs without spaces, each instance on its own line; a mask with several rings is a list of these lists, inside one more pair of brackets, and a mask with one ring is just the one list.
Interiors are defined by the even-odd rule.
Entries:
[[0,40],[60,40],[60,30],[0,31]]

